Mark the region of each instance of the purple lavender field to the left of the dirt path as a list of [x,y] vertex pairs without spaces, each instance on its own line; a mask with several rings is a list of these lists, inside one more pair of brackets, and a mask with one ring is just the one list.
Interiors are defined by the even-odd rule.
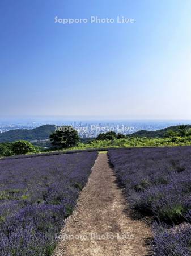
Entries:
[[0,255],[50,255],[96,152],[0,161]]

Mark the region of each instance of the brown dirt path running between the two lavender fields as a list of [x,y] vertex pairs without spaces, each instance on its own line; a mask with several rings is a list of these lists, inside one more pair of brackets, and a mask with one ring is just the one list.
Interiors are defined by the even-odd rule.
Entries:
[[55,256],[143,256],[150,229],[132,220],[122,189],[109,167],[107,154],[99,154],[77,208],[61,231]]

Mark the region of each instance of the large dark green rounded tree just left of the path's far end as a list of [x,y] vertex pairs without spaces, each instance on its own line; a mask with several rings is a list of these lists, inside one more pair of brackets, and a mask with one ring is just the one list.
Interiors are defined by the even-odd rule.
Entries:
[[71,126],[62,126],[50,135],[52,146],[57,148],[69,148],[77,146],[79,142],[78,132]]

